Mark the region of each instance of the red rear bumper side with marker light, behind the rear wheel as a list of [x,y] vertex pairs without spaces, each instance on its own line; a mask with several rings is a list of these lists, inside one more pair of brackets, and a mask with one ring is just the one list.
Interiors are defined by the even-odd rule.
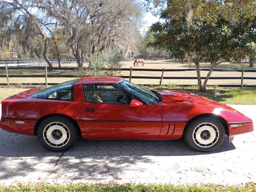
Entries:
[[[24,124],[16,124],[16,121],[23,121]],[[1,118],[0,128],[4,131],[18,133],[22,135],[34,135],[34,127],[36,121],[34,120],[21,120],[21,119],[7,119]]]

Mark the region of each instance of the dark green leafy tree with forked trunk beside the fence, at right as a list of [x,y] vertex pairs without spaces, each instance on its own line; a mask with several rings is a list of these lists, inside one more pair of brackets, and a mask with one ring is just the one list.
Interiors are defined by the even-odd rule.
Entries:
[[[255,1],[168,0],[160,21],[151,26],[155,40],[149,45],[167,48],[176,58],[184,53],[192,55],[198,87],[205,91],[216,65],[254,53],[251,37],[255,37],[255,18]],[[212,64],[204,83],[200,75],[202,58]]]

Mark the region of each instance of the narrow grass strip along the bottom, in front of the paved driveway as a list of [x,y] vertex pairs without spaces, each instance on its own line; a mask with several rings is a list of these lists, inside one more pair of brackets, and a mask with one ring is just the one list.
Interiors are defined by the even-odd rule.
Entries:
[[18,184],[0,186],[1,192],[256,192],[256,184],[245,186],[172,185],[172,184]]

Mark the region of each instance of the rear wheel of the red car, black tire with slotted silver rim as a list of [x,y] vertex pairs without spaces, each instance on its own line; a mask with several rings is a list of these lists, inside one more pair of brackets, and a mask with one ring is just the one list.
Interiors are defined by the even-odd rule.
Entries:
[[[78,136],[79,132],[76,129],[76,125],[69,119],[59,116],[44,119],[38,126],[37,131],[40,144],[47,150],[53,152],[62,152],[70,149],[76,142]],[[61,144],[56,144],[59,142]]]

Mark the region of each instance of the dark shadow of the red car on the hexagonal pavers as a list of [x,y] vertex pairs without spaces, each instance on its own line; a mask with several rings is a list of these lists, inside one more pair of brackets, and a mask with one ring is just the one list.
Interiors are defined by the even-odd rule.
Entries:
[[[61,152],[50,152],[44,149],[37,137],[8,133],[0,130],[0,156],[59,156]],[[184,139],[178,140],[83,140],[79,139],[76,144],[64,154],[71,156],[90,155],[149,155],[149,156],[188,156],[203,155],[234,150],[236,147],[228,143],[228,138],[218,150],[212,152],[197,152],[191,149]]]

